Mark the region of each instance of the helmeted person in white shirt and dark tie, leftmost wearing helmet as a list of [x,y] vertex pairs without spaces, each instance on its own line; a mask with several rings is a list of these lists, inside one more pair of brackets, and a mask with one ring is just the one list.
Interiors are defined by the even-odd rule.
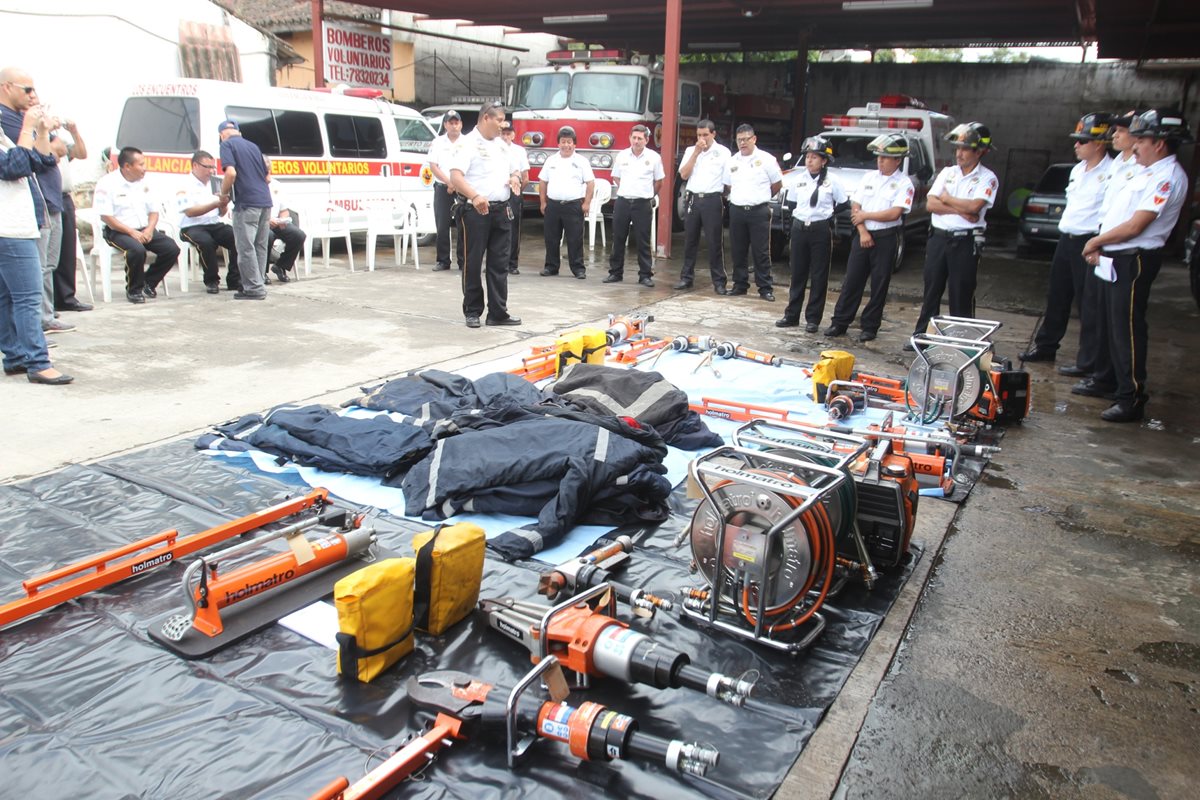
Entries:
[[[833,212],[848,198],[835,175],[829,174],[833,144],[814,136],[800,148],[804,167],[788,175],[790,187],[784,203],[792,209],[792,285],[787,307],[775,327],[796,327],[804,311],[804,330],[815,333],[824,314],[826,289],[829,285],[829,255],[833,251]],[[811,279],[812,294],[804,308],[804,287]]]

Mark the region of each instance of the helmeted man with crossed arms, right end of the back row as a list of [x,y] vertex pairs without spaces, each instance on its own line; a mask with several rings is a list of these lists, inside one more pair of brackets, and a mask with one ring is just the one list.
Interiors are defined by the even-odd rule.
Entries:
[[[996,203],[1000,181],[980,163],[991,150],[991,131],[982,122],[965,122],[946,134],[954,145],[953,167],[946,167],[929,190],[926,205],[932,233],[925,247],[925,290],[913,333],[924,333],[941,313],[949,287],[952,317],[974,317],[974,289],[983,254],[984,217]],[[905,344],[912,350],[912,342]]]

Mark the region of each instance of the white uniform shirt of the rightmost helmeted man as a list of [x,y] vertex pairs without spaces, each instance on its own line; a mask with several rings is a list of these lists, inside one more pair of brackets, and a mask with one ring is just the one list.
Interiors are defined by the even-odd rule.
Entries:
[[1166,243],[1166,237],[1178,222],[1187,194],[1188,174],[1175,156],[1166,156],[1144,167],[1105,206],[1100,233],[1128,221],[1135,211],[1150,211],[1156,219],[1133,239],[1108,245],[1104,249],[1158,249]]

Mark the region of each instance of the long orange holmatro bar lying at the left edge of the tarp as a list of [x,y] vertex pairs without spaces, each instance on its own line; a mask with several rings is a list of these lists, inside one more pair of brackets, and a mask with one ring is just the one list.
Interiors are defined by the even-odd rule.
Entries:
[[[92,555],[46,575],[22,582],[25,597],[0,606],[0,626],[16,622],[30,614],[53,608],[76,597],[128,578],[151,572],[221,542],[251,534],[259,528],[280,522],[294,515],[293,527],[304,530],[322,524],[322,516],[329,506],[329,492],[322,488],[278,503],[270,509],[221,523],[198,534],[181,536],[178,530],[164,530],[116,549]],[[307,513],[306,513],[307,512]],[[299,515],[304,515],[299,517]]]

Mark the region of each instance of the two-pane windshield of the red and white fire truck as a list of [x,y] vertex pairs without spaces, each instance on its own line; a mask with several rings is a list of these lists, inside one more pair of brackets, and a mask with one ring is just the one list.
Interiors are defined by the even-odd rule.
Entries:
[[640,114],[646,108],[648,80],[617,72],[539,72],[517,78],[514,108]]

